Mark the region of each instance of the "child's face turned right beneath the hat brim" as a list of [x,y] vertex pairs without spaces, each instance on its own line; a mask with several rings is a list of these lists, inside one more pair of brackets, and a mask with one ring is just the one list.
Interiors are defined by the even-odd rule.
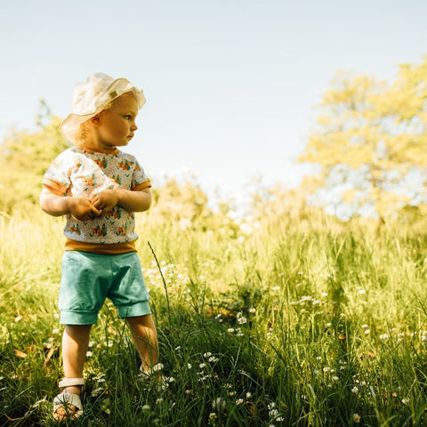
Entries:
[[123,147],[133,138],[138,129],[135,119],[138,116],[138,101],[133,93],[125,93],[112,102],[95,118],[93,141],[100,149]]

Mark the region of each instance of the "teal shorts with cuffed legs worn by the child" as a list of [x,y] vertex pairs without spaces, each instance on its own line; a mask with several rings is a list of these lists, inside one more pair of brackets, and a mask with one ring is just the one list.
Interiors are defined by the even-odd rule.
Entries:
[[151,313],[138,255],[66,251],[60,279],[60,323],[94,325],[106,298],[121,318]]

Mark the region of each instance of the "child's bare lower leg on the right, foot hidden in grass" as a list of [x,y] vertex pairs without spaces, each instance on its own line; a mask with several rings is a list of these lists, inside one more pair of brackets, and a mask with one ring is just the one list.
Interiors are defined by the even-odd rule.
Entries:
[[141,367],[144,371],[149,371],[158,362],[158,341],[157,330],[154,318],[151,314],[126,318],[131,328],[133,342],[141,358]]

